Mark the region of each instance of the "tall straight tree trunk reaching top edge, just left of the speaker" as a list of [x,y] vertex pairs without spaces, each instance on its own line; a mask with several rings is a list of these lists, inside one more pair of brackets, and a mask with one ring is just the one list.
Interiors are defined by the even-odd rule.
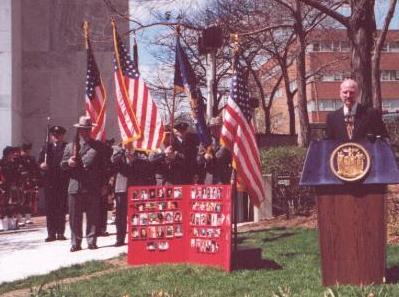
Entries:
[[310,126],[306,99],[306,40],[305,31],[302,26],[301,3],[298,0],[296,1],[295,22],[296,43],[299,51],[298,57],[296,58],[299,118],[298,145],[301,147],[307,147],[310,142]]

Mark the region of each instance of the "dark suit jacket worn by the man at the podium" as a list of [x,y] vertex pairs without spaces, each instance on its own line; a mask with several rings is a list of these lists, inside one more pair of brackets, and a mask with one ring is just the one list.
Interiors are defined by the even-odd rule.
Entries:
[[[326,134],[328,139],[350,141],[346,129],[343,107],[327,115]],[[358,104],[354,119],[352,140],[360,140],[370,134],[388,137],[388,132],[382,122],[380,113],[376,109]]]

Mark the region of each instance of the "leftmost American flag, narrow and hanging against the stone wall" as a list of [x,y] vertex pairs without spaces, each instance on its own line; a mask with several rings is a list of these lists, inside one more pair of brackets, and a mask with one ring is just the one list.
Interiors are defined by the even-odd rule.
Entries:
[[105,141],[106,93],[89,40],[87,40],[86,51],[86,115],[96,124],[92,128],[91,136],[94,139]]

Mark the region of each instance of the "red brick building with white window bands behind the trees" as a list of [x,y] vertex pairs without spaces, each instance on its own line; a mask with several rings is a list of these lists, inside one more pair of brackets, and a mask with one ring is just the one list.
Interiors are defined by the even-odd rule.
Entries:
[[[383,110],[386,112],[399,112],[398,30],[388,32],[381,55],[380,68]],[[275,69],[273,61],[270,61],[262,66],[261,71],[267,73],[273,69]],[[323,34],[315,33],[310,37],[306,53],[306,72],[307,75],[315,73],[308,79],[306,86],[309,122],[325,123],[327,113],[336,110],[342,105],[339,98],[339,85],[345,77],[350,75],[350,49],[345,30],[331,30]],[[290,66],[289,76],[289,87],[291,90],[295,90],[295,65]],[[270,92],[273,82],[273,79],[263,81],[266,93]],[[296,104],[296,97],[294,97],[295,110]],[[295,126],[298,131],[297,113],[295,115]],[[281,82],[273,99],[270,118],[272,133],[289,133],[289,115],[284,82]],[[262,123],[264,121],[263,115],[258,114],[257,120],[259,121],[258,129],[262,131],[264,127],[264,123]]]

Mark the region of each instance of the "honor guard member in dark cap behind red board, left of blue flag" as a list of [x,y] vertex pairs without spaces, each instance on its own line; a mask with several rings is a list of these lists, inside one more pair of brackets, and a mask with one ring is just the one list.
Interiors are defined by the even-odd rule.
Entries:
[[150,155],[157,185],[187,185],[197,172],[198,139],[189,133],[189,124],[176,121],[172,137],[165,137],[162,152]]

